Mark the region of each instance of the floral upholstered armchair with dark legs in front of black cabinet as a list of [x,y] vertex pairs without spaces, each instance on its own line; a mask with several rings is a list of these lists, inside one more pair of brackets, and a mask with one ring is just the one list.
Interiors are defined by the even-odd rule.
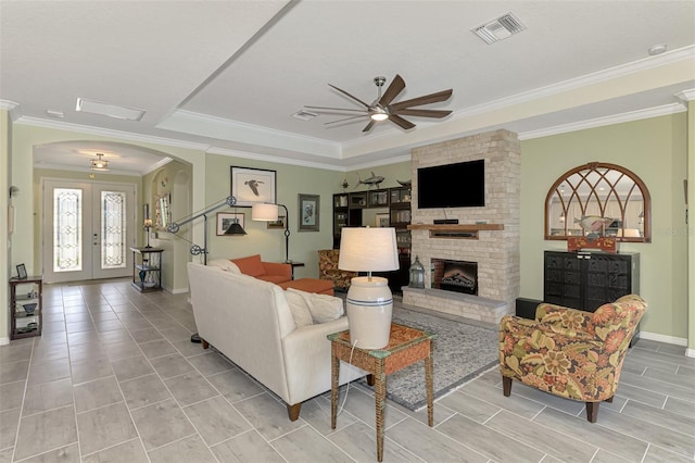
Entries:
[[596,422],[598,404],[612,401],[622,361],[647,304],[623,296],[596,312],[542,303],[535,321],[505,316],[500,322],[500,370],[506,397],[511,379],[586,402]]

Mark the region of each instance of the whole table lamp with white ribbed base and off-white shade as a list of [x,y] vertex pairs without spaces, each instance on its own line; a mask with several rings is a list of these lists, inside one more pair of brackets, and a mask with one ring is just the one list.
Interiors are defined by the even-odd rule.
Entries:
[[393,296],[389,280],[372,277],[371,272],[399,270],[395,228],[343,228],[338,268],[367,273],[352,278],[348,290],[351,343],[361,349],[384,348],[391,333]]

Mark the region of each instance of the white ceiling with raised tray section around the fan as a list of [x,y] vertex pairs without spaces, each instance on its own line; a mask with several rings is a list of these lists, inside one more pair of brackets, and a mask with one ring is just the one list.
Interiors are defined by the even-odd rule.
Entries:
[[[493,45],[471,33],[507,12],[527,29]],[[695,88],[693,1],[1,0],[0,20],[0,100],[17,123],[334,168],[489,128],[528,133],[672,105]],[[648,57],[656,43],[669,51]],[[453,88],[425,108],[454,113],[367,134],[366,120],[327,127],[339,116],[291,117],[305,104],[356,108],[328,83],[369,102],[372,78],[388,86],[396,73],[406,82],[396,102]],[[80,97],[147,113],[139,122],[80,113]],[[159,161],[119,143],[64,143],[37,149],[35,162],[81,166],[99,149],[114,170]]]

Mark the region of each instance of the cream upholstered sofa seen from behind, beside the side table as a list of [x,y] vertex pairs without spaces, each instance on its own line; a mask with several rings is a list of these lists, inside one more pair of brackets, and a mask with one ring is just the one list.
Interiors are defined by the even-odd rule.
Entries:
[[[298,326],[296,308],[290,309],[289,295],[273,283],[197,263],[188,264],[188,277],[203,347],[212,345],[280,397],[291,421],[299,418],[303,401],[330,390],[331,351],[326,336],[348,329],[346,316]],[[290,297],[293,303],[301,291],[294,292]],[[321,302],[338,299],[302,297],[321,298]],[[344,312],[342,300],[338,301]],[[367,374],[344,363],[340,368],[341,384]]]

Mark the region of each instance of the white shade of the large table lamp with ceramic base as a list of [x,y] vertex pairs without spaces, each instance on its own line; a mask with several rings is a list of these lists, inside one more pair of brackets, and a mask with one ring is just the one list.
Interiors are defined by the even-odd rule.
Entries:
[[338,268],[352,272],[399,270],[395,228],[345,227],[340,238]]

